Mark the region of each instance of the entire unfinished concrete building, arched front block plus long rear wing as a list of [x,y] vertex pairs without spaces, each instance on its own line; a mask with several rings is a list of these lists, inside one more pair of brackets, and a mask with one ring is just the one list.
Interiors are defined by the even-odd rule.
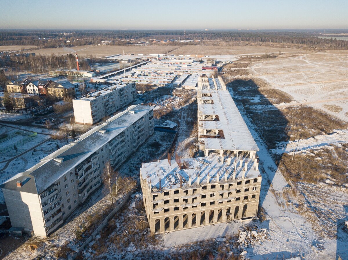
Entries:
[[258,211],[258,147],[221,77],[198,81],[199,148],[204,157],[143,163],[151,233],[248,219]]

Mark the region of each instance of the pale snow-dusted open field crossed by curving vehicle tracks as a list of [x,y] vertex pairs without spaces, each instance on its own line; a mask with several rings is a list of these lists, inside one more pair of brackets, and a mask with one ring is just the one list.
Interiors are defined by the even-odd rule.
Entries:
[[[348,121],[348,51],[280,56],[255,63],[250,70],[256,77],[290,94],[298,103]],[[337,107],[329,109],[327,105]]]

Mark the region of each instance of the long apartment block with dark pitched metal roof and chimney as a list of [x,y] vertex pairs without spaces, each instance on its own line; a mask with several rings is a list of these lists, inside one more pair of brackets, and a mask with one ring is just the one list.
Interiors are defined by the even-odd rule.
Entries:
[[0,185],[11,225],[47,237],[101,185],[108,161],[116,169],[152,133],[152,108],[133,105],[15,175]]

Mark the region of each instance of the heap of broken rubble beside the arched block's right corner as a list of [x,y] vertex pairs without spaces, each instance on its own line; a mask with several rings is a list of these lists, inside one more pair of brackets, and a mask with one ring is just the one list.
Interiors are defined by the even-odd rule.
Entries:
[[259,228],[256,225],[244,226],[244,230],[239,230],[238,244],[242,251],[246,247],[252,247],[255,243],[260,243],[268,239],[266,228]]

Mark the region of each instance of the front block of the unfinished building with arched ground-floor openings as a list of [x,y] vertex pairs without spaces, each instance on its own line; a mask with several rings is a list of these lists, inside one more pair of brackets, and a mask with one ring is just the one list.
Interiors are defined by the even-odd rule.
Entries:
[[151,233],[256,216],[261,175],[256,158],[200,157],[143,163],[143,202]]

